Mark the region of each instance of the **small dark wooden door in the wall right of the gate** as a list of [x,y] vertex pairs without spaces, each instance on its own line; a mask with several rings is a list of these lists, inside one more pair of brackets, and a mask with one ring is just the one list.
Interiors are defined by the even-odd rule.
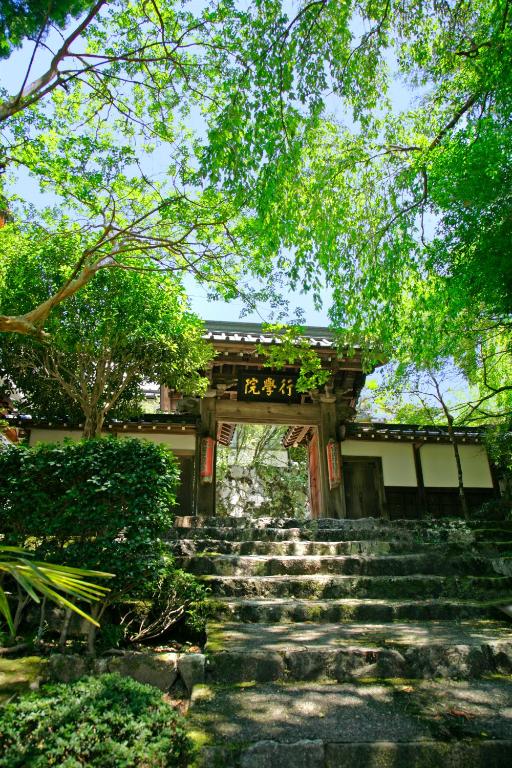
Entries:
[[379,458],[344,456],[343,474],[347,517],[382,517],[384,482]]

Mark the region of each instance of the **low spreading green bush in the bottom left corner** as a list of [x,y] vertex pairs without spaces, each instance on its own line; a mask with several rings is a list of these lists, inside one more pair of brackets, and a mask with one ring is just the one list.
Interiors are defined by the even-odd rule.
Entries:
[[0,710],[1,768],[181,768],[190,742],[156,688],[118,675],[45,686]]

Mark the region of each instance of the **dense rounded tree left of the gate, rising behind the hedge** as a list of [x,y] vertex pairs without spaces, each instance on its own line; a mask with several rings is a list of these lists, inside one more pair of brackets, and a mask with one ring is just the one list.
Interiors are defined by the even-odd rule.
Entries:
[[[22,271],[14,259],[7,272],[13,304],[40,301],[43,290],[51,295],[61,258],[55,256],[53,272],[47,253]],[[125,414],[140,402],[144,381],[187,394],[205,386],[200,370],[211,357],[210,347],[182,288],[168,276],[102,270],[56,309],[48,328],[47,341],[4,335],[1,374],[23,393],[33,415],[82,423],[85,437],[100,434],[107,415]]]

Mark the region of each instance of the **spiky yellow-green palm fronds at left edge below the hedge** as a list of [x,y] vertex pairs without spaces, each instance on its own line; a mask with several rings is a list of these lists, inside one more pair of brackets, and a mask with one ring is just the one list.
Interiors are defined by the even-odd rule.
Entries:
[[[12,576],[36,603],[40,602],[40,595],[43,595],[58,605],[74,611],[91,624],[99,626],[92,616],[65,595],[87,602],[102,600],[110,590],[88,579],[109,579],[114,574],[39,562],[32,560],[31,557],[30,552],[20,547],[0,545],[0,573]],[[14,635],[15,627],[9,601],[2,586],[0,586],[0,614],[7,622],[11,635]]]

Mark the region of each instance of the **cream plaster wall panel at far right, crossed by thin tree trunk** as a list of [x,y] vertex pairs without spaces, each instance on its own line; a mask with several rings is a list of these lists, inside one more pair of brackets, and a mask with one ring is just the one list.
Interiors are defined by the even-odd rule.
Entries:
[[[482,445],[459,445],[466,488],[492,488],[487,453]],[[427,443],[421,447],[423,482],[427,488],[457,487],[457,465],[451,445]]]

